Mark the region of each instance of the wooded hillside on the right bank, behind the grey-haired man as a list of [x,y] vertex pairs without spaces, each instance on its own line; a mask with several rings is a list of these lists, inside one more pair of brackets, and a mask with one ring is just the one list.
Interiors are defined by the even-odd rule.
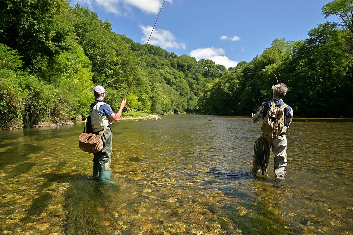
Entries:
[[352,12],[351,0],[328,2],[323,17],[337,16],[339,23],[319,24],[301,41],[274,39],[260,56],[208,84],[199,98],[199,112],[249,116],[271,99],[277,77],[288,86],[284,101],[295,116],[352,117]]

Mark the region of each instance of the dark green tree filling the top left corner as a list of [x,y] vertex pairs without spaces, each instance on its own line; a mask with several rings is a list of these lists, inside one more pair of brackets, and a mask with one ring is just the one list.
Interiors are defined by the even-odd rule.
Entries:
[[1,0],[0,42],[19,52],[25,68],[40,72],[72,43],[70,10],[66,0]]

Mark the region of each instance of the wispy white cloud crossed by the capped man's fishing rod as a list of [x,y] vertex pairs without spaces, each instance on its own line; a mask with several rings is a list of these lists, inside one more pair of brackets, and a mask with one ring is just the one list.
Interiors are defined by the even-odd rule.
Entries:
[[[143,26],[141,25],[140,28],[142,29],[143,37],[141,38],[142,43],[147,43],[148,38],[151,35],[152,26]],[[177,43],[174,34],[168,30],[164,29],[154,29],[148,44],[152,44],[155,46],[159,46],[163,49],[172,48],[172,49],[185,49],[185,43]]]

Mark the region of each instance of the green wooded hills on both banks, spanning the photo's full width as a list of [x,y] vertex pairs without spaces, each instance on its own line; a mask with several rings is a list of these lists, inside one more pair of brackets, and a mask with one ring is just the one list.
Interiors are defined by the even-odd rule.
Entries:
[[[117,111],[247,115],[288,86],[296,116],[352,117],[353,6],[322,7],[326,22],[302,41],[274,39],[250,62],[226,69],[112,32],[97,13],[66,0],[0,0],[0,128],[28,127],[64,116],[85,117],[95,85]],[[135,75],[135,76],[134,76]]]

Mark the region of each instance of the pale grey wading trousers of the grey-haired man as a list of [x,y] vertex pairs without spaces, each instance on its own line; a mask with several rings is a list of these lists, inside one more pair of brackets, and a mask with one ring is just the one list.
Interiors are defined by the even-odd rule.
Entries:
[[[274,170],[277,178],[283,178],[286,174],[287,166],[287,137],[286,135],[273,137],[264,135],[272,148],[272,153],[275,155],[273,160]],[[252,171],[257,172],[260,169],[260,164],[255,156],[253,156]]]

